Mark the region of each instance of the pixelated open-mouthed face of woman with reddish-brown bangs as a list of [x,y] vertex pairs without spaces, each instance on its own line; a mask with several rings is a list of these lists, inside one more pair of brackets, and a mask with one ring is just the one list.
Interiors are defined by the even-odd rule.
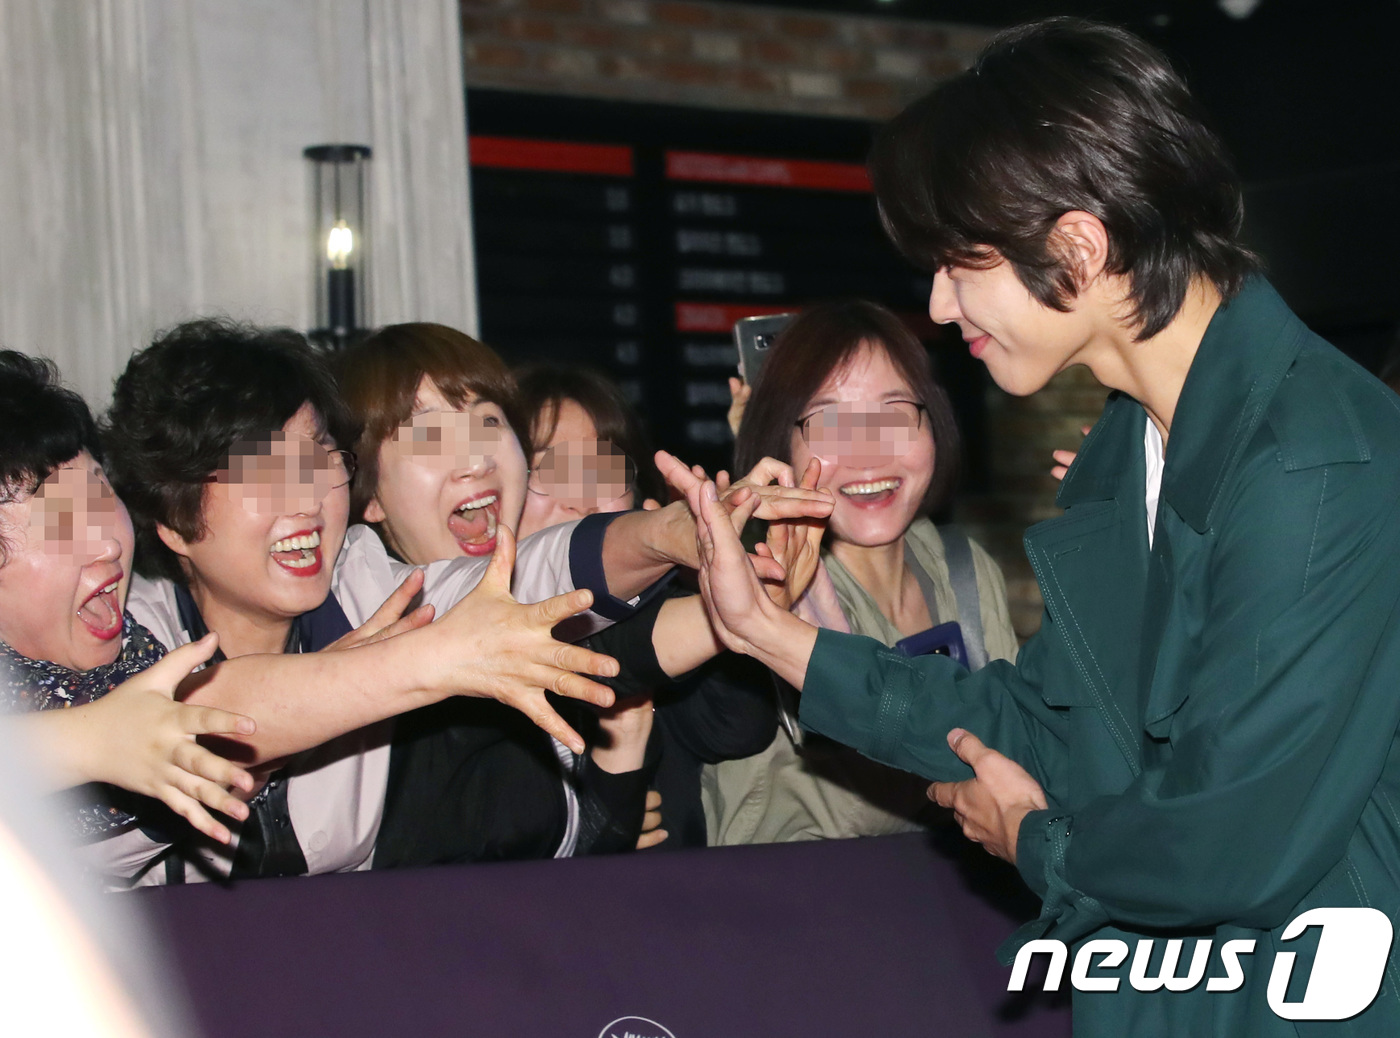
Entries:
[[413,415],[379,445],[365,518],[419,566],[490,555],[497,525],[519,525],[525,476],[525,454],[498,405],[470,395],[456,408],[424,377]]

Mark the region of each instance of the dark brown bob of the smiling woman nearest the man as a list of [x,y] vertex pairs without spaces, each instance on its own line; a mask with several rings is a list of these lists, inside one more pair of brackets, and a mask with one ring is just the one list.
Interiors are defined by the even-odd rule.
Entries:
[[[792,461],[792,433],[818,389],[871,345],[885,350],[895,370],[923,403],[934,437],[934,478],[920,504],[938,511],[958,483],[962,437],[948,392],[934,378],[928,350],[895,314],[865,300],[822,303],[798,314],[769,347],[734,444],[742,475],[763,458]],[[802,473],[799,472],[798,476]]]

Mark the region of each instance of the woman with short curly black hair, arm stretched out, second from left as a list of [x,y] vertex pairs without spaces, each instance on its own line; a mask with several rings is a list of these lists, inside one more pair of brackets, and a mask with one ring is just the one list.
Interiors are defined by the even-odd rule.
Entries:
[[[258,719],[245,741],[273,772],[235,846],[181,842],[139,883],[367,869],[389,756],[379,721],[456,692],[518,706],[573,740],[545,689],[612,700],[564,668],[615,664],[549,635],[592,600],[571,593],[567,570],[517,583],[539,602],[519,605],[508,535],[491,559],[419,572],[371,531],[347,534],[354,431],[322,361],[290,331],[185,324],[116,382],[106,441],[136,527],[132,611],[165,647],[213,630],[231,663],[262,663],[260,682],[210,682],[190,698]],[[420,593],[424,605],[392,623]],[[151,838],[133,854],[153,861],[168,843]]]

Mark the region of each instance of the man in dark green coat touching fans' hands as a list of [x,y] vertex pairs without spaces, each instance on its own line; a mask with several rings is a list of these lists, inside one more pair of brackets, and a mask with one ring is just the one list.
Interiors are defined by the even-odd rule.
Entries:
[[1042,629],[977,674],[818,632],[704,483],[725,643],[1015,861],[1044,908],[1011,950],[1068,946],[1077,1034],[1400,1034],[1400,398],[1253,273],[1218,140],[1127,32],[1002,34],[872,177],[1004,389],[1114,391],[1026,535]]

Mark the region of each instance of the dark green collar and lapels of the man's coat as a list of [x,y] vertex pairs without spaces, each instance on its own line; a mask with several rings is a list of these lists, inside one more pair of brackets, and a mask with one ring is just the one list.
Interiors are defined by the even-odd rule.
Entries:
[[[1210,530],[1221,489],[1302,346],[1303,324],[1263,277],[1215,311],[1172,417],[1162,497],[1197,532]],[[1141,405],[1113,394],[1070,468],[1056,504],[1114,497],[1142,447]],[[1130,436],[1135,430],[1137,436]]]

